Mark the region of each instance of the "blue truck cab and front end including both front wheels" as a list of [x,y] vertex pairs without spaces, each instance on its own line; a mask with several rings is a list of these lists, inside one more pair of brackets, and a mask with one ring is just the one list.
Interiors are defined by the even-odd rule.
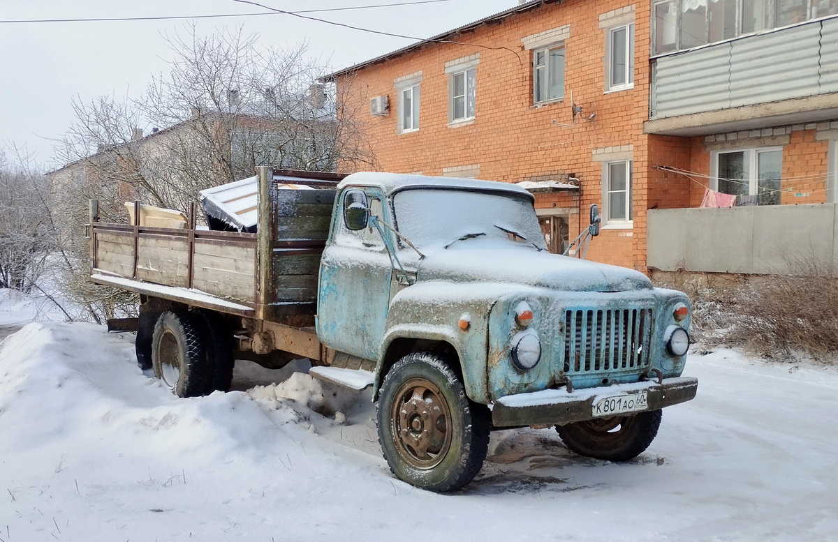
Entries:
[[555,426],[574,452],[649,446],[682,377],[690,302],[637,271],[549,253],[529,192],[356,173],[337,187],[318,340],[374,366],[379,439],[399,478],[450,491],[489,432]]

